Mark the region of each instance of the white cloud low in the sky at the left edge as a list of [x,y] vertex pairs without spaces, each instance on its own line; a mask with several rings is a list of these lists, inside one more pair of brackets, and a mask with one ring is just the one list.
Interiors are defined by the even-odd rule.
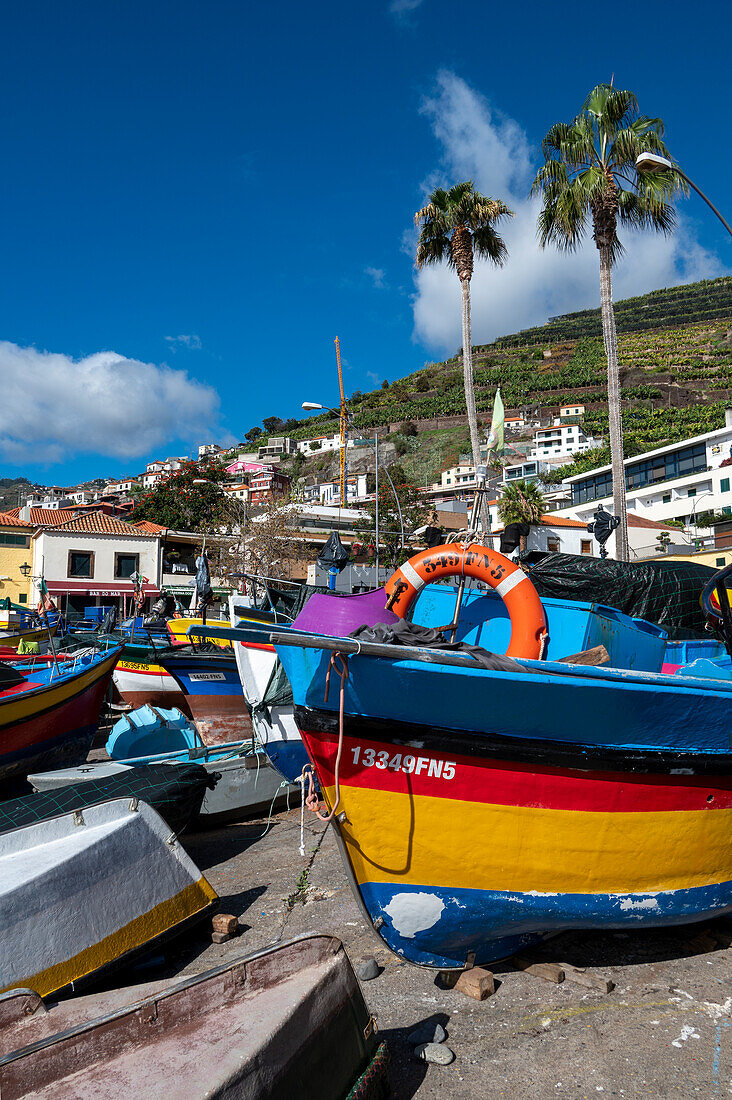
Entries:
[[0,457],[62,462],[79,452],[133,459],[216,431],[218,394],[165,364],[112,351],[85,359],[0,341]]

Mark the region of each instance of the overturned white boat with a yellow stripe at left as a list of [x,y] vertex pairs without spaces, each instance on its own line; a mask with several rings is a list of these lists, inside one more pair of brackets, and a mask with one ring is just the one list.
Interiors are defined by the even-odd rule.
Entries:
[[[211,912],[216,893],[145,802],[0,836],[0,992],[76,986]],[[19,920],[19,914],[22,920]]]

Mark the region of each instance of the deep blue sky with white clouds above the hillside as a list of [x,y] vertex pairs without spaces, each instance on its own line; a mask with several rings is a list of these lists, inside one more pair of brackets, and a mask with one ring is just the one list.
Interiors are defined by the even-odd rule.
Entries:
[[[693,11],[621,0],[605,25],[572,2],[13,6],[0,476],[135,473],[335,403],[336,336],[349,392],[454,352],[457,279],[415,278],[412,258],[438,182],[472,176],[516,210],[509,264],[476,272],[476,341],[597,304],[594,250],[539,255],[526,191],[546,130],[613,74],[729,220],[730,20]],[[616,296],[722,274],[731,244],[692,196],[674,241],[629,242]]]

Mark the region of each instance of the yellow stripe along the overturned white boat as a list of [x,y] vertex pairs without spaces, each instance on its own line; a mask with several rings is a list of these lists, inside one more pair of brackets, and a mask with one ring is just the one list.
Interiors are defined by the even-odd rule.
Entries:
[[[157,936],[210,909],[217,897],[216,891],[201,876],[198,882],[192,882],[174,898],[155,905],[149,913],[136,916],[124,927],[105,936],[98,944],[91,944],[72,958],[24,979],[24,985],[35,990],[40,997],[47,997],[48,993],[64,989],[73,981],[80,981],[86,975],[103,969],[123,955],[144,947]],[[0,989],[0,993],[12,988],[14,987],[7,986],[6,989]]]

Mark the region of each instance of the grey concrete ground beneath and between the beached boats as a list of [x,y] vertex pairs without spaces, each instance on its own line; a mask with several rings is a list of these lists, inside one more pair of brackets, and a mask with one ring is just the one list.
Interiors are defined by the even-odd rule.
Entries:
[[[305,857],[299,810],[276,814],[264,836],[264,821],[185,835],[220,911],[240,917],[243,931],[218,946],[200,928],[116,983],[194,974],[280,938],[328,932],[354,966],[373,955],[383,967],[362,988],[389,1043],[400,1100],[732,1096],[732,922],[565,934],[536,957],[610,978],[612,992],[498,965],[495,993],[479,1002],[386,949],[351,894],[331,832],[305,817]],[[425,1020],[446,1027],[450,1066],[415,1060],[406,1037]]]

